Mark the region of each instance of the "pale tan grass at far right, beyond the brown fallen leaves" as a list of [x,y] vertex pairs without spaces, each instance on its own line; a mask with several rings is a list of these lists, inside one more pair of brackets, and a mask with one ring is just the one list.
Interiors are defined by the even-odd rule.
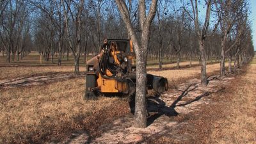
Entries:
[[248,68],[236,90],[226,93],[232,100],[226,104],[225,118],[216,122],[219,128],[213,129],[212,143],[256,143],[256,65]]

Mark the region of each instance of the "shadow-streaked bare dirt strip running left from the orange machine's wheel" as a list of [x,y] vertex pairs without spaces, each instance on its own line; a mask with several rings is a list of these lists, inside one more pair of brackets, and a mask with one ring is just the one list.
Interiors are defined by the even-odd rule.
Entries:
[[19,77],[12,80],[0,80],[0,88],[14,88],[17,86],[35,86],[47,83],[52,83],[56,81],[63,81],[67,79],[72,79],[75,77],[83,77],[85,74],[80,74],[79,76],[70,73],[48,73],[44,75],[34,75],[29,77]]

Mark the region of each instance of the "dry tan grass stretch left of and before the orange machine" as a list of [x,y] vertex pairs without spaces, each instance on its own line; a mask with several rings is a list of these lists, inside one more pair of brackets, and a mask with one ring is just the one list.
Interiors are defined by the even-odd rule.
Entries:
[[[102,109],[116,103],[128,108],[116,97],[83,100],[84,82],[77,78],[45,86],[0,90],[0,143],[58,140],[73,131],[91,129],[91,116],[100,117]],[[125,112],[127,109],[119,113]],[[112,113],[119,115],[115,111]]]

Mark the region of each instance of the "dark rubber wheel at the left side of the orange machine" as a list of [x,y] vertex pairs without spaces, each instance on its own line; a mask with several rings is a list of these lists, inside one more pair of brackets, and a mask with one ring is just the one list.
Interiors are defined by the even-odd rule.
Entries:
[[96,77],[93,74],[86,75],[86,86],[85,86],[85,93],[84,99],[86,100],[96,100],[97,95],[95,92],[91,90],[91,88],[95,88],[96,86]]

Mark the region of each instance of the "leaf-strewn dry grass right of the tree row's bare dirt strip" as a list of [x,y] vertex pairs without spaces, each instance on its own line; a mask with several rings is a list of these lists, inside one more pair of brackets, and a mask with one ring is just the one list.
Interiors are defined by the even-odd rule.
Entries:
[[236,78],[225,90],[209,95],[210,104],[175,118],[184,124],[170,130],[177,131],[179,140],[160,134],[150,143],[256,143],[256,64],[229,76]]

